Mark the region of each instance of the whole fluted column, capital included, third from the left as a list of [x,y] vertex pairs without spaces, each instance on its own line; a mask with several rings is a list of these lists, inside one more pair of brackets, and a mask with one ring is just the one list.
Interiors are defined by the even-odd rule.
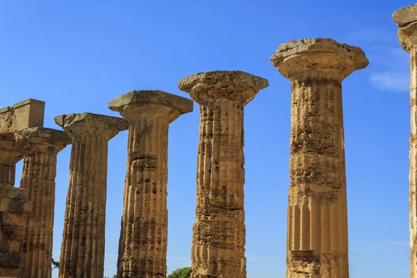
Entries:
[[128,124],[92,113],[60,115],[55,122],[72,138],[59,277],[102,278],[108,140]]

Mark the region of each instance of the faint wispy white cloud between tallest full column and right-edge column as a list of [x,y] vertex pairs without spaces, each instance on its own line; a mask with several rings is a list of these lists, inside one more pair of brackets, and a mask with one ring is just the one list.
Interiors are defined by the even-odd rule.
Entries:
[[409,73],[407,72],[373,72],[370,81],[380,90],[389,92],[408,92]]

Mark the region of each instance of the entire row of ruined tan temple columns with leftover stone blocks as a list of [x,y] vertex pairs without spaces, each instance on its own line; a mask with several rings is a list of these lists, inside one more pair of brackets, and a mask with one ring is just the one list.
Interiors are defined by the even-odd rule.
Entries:
[[[411,58],[410,271],[417,278],[417,4],[395,11],[393,20]],[[348,278],[342,83],[368,59],[359,47],[307,38],[279,45],[270,60],[291,81],[286,277]],[[191,99],[133,90],[108,104],[122,117],[59,115],[63,130],[43,126],[44,101],[0,109],[0,277],[51,277],[57,155],[67,145],[59,277],[104,276],[108,141],[128,130],[117,277],[165,278],[168,130],[193,112],[193,101],[200,123],[191,277],[247,277],[243,111],[268,81],[214,71],[185,77],[178,87]]]

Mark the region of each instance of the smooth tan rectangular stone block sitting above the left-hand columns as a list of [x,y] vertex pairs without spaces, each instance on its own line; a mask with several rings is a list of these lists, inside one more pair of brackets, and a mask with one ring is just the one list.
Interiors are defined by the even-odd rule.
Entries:
[[15,108],[16,130],[27,129],[28,127],[43,126],[44,123],[44,101],[26,99],[13,106]]

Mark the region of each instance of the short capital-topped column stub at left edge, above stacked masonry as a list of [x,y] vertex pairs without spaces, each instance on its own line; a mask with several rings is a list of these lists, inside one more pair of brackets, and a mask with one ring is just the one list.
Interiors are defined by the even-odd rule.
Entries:
[[0,133],[0,184],[15,185],[16,163],[23,158],[14,133]]

